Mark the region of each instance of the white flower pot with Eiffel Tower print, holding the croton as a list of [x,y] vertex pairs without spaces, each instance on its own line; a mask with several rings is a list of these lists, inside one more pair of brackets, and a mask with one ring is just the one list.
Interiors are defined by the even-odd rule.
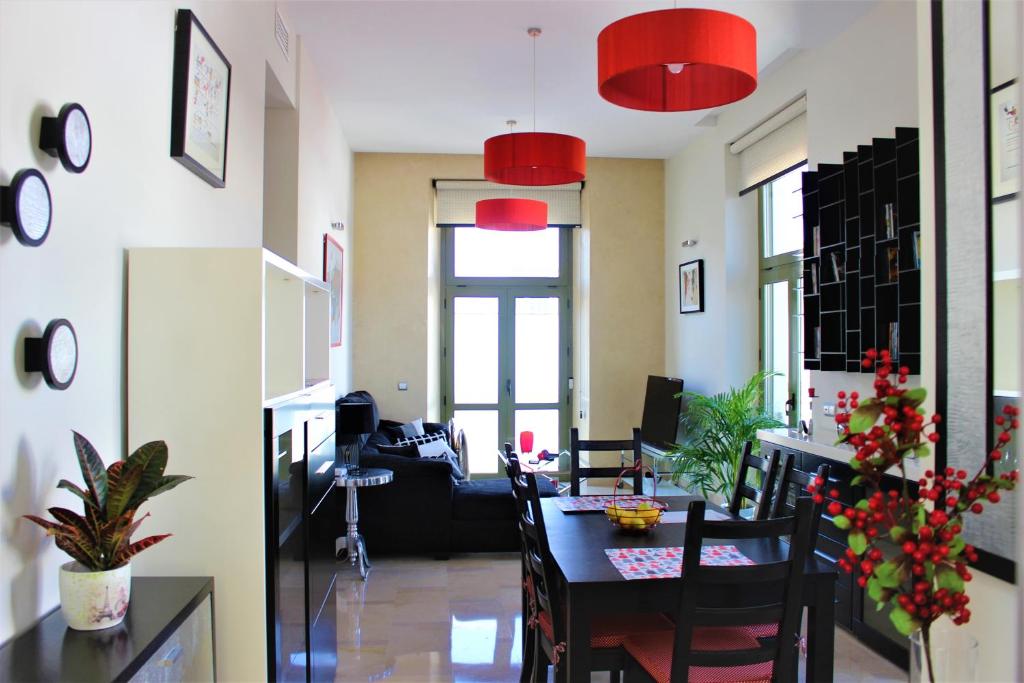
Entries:
[[128,612],[131,563],[106,571],[89,571],[78,562],[60,566],[60,611],[77,631],[117,626]]

